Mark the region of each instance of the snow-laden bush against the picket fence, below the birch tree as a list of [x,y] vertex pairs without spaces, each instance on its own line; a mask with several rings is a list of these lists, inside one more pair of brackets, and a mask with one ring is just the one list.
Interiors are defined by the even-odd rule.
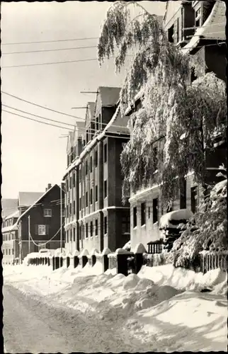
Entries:
[[200,202],[186,230],[173,243],[169,259],[176,266],[188,266],[203,250],[227,251],[227,179],[211,188]]

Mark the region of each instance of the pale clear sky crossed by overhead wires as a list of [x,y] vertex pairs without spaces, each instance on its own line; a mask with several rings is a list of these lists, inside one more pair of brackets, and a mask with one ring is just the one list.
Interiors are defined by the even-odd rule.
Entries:
[[[151,13],[163,15],[166,3],[140,1],[140,4]],[[107,1],[1,2],[1,91],[84,118],[85,110],[71,108],[85,106],[88,101],[94,101],[96,95],[80,91],[96,91],[98,86],[121,86],[123,73],[115,75],[113,62],[107,62],[101,69],[96,61],[4,67],[96,58],[96,48],[12,55],[4,53],[91,46],[96,45],[97,40],[3,44],[98,37],[109,6]],[[72,124],[75,121],[74,118],[35,107],[4,93],[1,93],[1,101],[46,118]],[[5,112],[2,112],[1,120],[2,198],[17,198],[19,190],[44,192],[47,183],[59,183],[67,167],[67,138],[60,139],[59,136],[67,134],[67,130]]]

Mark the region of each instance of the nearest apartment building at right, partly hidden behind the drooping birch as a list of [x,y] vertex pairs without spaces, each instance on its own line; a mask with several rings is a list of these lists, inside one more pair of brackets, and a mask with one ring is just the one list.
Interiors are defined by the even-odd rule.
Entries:
[[[217,77],[226,80],[226,45],[225,11],[223,1],[168,1],[164,15],[164,28],[170,42],[174,42],[183,53],[198,55],[205,62],[205,73],[215,72]],[[190,81],[195,79],[194,74]],[[141,94],[142,96],[142,94]],[[135,105],[128,109],[130,116],[141,107],[140,93],[135,98]],[[157,149],[163,149],[164,141],[157,142]],[[223,163],[227,165],[226,142],[215,138],[216,149],[206,152],[207,183],[220,181],[216,177],[217,168]],[[149,241],[156,241],[162,235],[159,231],[159,220],[166,212],[179,209],[196,210],[202,190],[194,182],[193,173],[189,173],[183,181],[179,198],[173,205],[164,207],[161,204],[159,185],[149,184],[148,188],[139,189],[130,195],[130,239],[134,247],[139,242],[147,246]]]

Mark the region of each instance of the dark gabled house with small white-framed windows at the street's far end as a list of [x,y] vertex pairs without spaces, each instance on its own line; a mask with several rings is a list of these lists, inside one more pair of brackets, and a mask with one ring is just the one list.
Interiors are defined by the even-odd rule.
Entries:
[[64,198],[64,192],[57,184],[48,184],[45,193],[19,193],[20,215],[14,226],[18,229],[16,258],[20,262],[28,253],[38,252],[42,248],[58,249],[61,247],[61,235],[64,246],[64,219],[61,222],[60,217],[61,191]]

